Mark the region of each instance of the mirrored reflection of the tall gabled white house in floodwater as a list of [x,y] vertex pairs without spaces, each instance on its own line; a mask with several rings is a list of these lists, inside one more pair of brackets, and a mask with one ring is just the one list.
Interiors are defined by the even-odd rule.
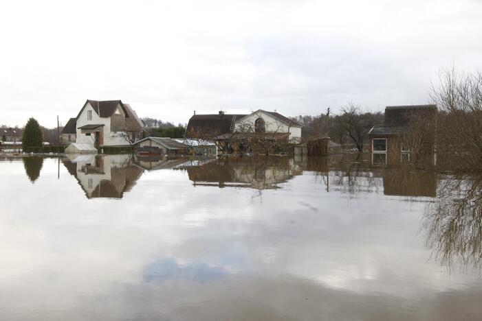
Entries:
[[122,198],[142,176],[130,155],[78,155],[63,160],[87,198]]

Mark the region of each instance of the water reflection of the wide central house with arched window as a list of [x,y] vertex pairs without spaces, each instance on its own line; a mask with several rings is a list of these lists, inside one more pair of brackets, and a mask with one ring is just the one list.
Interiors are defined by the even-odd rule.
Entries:
[[300,175],[302,169],[289,158],[234,158],[184,167],[194,185],[273,189]]

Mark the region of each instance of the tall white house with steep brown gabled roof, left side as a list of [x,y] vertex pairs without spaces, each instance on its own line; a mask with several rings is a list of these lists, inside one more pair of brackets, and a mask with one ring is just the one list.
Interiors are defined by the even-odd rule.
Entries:
[[131,106],[120,100],[87,100],[76,120],[76,143],[95,147],[130,145],[144,127]]

